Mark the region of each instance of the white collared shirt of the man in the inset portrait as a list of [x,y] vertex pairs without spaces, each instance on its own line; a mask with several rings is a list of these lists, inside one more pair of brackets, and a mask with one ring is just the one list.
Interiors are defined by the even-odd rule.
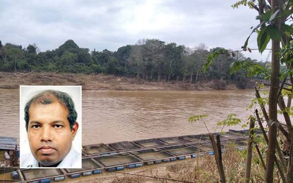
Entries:
[[[21,158],[21,168],[30,167],[39,167],[39,162],[34,158],[32,153],[23,155]],[[82,156],[72,146],[69,153],[67,156],[65,156],[62,162],[59,163],[57,167],[53,168],[82,168]]]

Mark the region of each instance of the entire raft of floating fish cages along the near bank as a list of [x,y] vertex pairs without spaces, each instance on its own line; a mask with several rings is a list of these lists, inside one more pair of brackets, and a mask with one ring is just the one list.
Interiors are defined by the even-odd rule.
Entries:
[[[249,131],[230,130],[220,134],[222,152],[229,147],[242,150],[247,145]],[[259,134],[259,131],[255,131]],[[219,133],[213,134],[214,136]],[[83,146],[82,168],[19,169],[0,168],[1,182],[50,183],[103,172],[141,167],[144,164],[167,163],[196,156],[214,155],[209,134],[146,139]],[[8,172],[7,172],[8,171]]]

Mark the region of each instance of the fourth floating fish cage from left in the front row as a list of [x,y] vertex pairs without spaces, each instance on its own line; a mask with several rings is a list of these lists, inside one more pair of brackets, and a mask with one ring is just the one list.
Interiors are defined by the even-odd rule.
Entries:
[[172,154],[158,148],[133,151],[131,154],[141,159],[147,165],[170,162],[170,158],[173,158]]

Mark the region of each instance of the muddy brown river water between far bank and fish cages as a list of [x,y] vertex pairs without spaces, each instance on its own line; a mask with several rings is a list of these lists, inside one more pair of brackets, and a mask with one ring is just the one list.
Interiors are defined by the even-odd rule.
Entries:
[[[207,132],[234,113],[245,120],[254,90],[83,91],[83,144],[134,141]],[[19,138],[19,90],[0,89],[0,136]],[[242,129],[232,126],[230,129]],[[219,131],[217,129],[216,131]]]

